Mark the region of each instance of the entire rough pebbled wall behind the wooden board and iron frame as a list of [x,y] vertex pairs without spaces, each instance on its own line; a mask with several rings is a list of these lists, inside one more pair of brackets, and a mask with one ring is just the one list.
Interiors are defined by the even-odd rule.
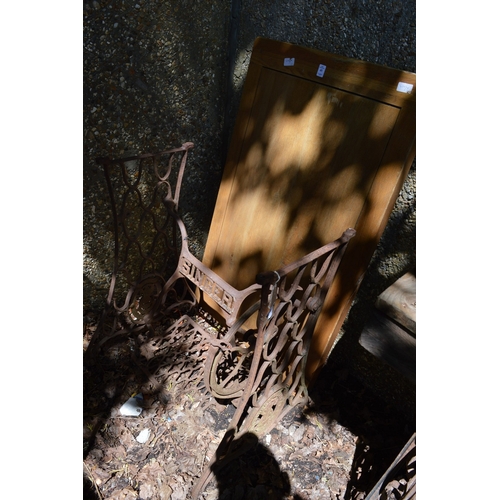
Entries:
[[[411,1],[86,0],[86,310],[102,306],[111,269],[109,212],[94,158],[194,142],[181,207],[201,257],[258,36],[416,71]],[[364,315],[381,291],[415,266],[415,182],[413,166],[334,349],[344,361],[368,366],[366,373],[373,360],[357,344]]]

